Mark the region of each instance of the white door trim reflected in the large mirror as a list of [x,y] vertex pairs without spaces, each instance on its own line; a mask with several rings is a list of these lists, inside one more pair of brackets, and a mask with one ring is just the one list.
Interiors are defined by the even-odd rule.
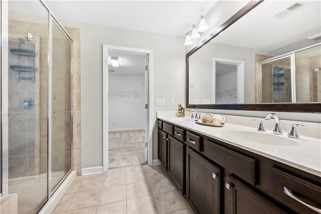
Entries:
[[216,81],[216,63],[222,62],[225,64],[231,64],[237,66],[237,103],[244,103],[244,69],[245,62],[234,59],[223,59],[223,58],[213,58],[213,104],[216,103],[216,89],[215,89],[215,81]]

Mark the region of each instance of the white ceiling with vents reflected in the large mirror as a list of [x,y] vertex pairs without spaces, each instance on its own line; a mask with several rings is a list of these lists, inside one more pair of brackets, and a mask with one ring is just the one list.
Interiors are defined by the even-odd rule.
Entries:
[[272,17],[296,2],[264,1],[212,42],[280,54],[320,43],[306,37],[321,32],[321,1],[300,1],[304,6],[291,14]]

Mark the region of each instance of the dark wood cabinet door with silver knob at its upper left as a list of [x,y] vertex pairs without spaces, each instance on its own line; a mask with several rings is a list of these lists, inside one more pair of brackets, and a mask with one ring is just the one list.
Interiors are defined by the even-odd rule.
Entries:
[[262,195],[253,191],[231,175],[228,176],[228,213],[286,213]]

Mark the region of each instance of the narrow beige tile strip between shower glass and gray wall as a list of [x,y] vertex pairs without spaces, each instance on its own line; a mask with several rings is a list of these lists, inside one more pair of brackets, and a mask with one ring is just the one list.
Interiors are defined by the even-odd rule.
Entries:
[[81,175],[81,52],[80,29],[65,27],[74,40],[72,90],[73,90],[73,169]]

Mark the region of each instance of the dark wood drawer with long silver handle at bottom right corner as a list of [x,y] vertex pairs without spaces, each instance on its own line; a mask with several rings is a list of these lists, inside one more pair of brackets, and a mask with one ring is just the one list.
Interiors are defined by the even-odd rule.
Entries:
[[272,197],[298,213],[321,213],[321,187],[273,167],[269,171]]

